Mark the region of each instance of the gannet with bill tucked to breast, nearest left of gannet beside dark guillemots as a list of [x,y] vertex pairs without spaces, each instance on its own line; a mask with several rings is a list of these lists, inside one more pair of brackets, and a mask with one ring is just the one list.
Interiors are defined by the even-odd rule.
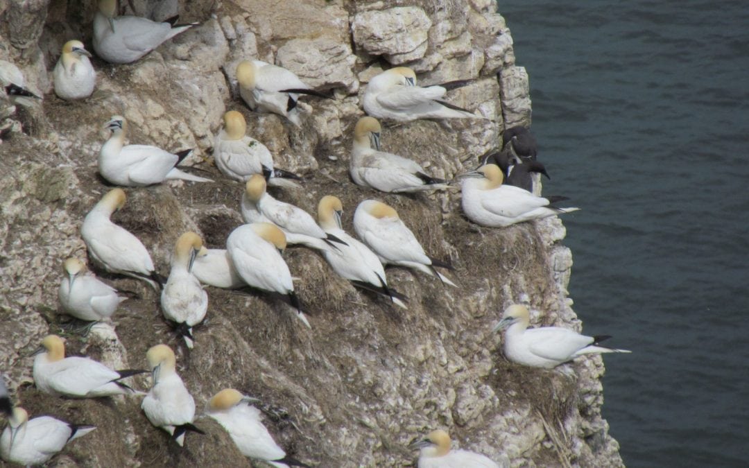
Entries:
[[380,122],[373,117],[363,117],[357,122],[349,168],[354,183],[380,192],[447,188],[446,180],[427,175],[422,166],[411,159],[380,151],[380,131]]

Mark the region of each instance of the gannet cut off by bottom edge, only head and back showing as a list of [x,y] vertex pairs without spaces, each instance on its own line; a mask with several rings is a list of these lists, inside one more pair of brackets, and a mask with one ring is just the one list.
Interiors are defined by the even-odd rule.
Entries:
[[419,468],[500,468],[485,455],[467,450],[450,450],[450,436],[445,431],[431,431],[427,437],[410,445],[420,449]]

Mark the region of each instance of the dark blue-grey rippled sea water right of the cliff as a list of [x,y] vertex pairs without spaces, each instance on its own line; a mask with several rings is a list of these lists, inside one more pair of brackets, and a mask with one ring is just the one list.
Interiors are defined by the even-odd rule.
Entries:
[[500,4],[632,467],[749,463],[749,3]]

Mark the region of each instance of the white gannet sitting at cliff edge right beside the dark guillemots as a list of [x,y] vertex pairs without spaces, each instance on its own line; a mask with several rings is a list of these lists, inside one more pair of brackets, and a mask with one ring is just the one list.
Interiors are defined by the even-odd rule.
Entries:
[[543,198],[520,187],[503,185],[502,170],[494,164],[461,174],[461,177],[464,177],[461,183],[463,212],[468,219],[482,226],[505,227],[580,210],[551,206],[553,201],[565,198]]

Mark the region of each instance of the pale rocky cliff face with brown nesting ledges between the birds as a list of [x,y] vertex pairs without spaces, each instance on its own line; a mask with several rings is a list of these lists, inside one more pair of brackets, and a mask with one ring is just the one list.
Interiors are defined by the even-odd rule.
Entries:
[[[478,109],[487,120],[416,121],[386,126],[383,147],[421,162],[436,177],[474,168],[504,127],[530,123],[524,69],[515,67],[512,37],[494,1],[353,2],[270,0],[189,2],[136,0],[141,16],[181,13],[202,25],[135,64],[94,58],[97,91],[84,102],[51,94],[61,45],[91,43],[91,0],[0,4],[0,58],[25,73],[41,103],[3,103],[0,145],[0,369],[15,399],[34,415],[51,414],[98,426],[55,458],[65,466],[243,466],[228,435],[210,419],[196,424],[185,449],[170,443],[140,410],[140,398],[71,401],[37,392],[28,353],[49,332],[67,338],[68,354],[85,353],[115,368],[144,368],[145,351],[163,342],[178,350],[178,371],[201,410],[219,389],[233,386],[260,398],[273,415],[267,426],[290,455],[319,467],[413,464],[407,444],[433,428],[450,431],[454,446],[518,465],[619,466],[616,441],[601,419],[600,358],[569,371],[512,365],[491,333],[509,303],[542,311],[534,323],[574,326],[566,286],[571,254],[560,245],[559,219],[505,229],[479,229],[461,216],[458,190],[436,195],[384,195],[348,177],[359,97],[388,64],[407,64],[422,85],[470,79],[450,101]],[[281,6],[282,5],[282,6]],[[132,12],[129,12],[132,13]],[[23,25],[23,26],[22,26]],[[90,49],[90,47],[88,47]],[[336,100],[303,99],[308,112],[296,129],[275,115],[249,112],[236,94],[240,59],[276,62]],[[261,295],[209,288],[209,309],[195,329],[195,349],[161,318],[158,297],[142,282],[104,276],[136,291],[115,315],[115,329],[87,336],[58,316],[61,262],[85,258],[79,229],[109,187],[96,159],[111,115],[130,121],[130,142],[180,150],[197,148],[191,163],[216,183],[169,183],[127,189],[113,219],[148,247],[157,270],[169,272],[177,237],[198,231],[223,248],[241,222],[243,186],[200,162],[228,109],[246,115],[248,133],[273,153],[276,165],[307,177],[303,189],[277,198],[315,211],[321,196],[339,196],[345,229],[357,204],[377,198],[395,207],[426,251],[449,260],[458,288],[410,270],[387,270],[389,283],[410,298],[407,311],[355,290],[321,255],[288,249],[285,259],[312,330],[285,306]],[[116,331],[116,334],[115,334]],[[147,389],[147,378],[136,378]]]

